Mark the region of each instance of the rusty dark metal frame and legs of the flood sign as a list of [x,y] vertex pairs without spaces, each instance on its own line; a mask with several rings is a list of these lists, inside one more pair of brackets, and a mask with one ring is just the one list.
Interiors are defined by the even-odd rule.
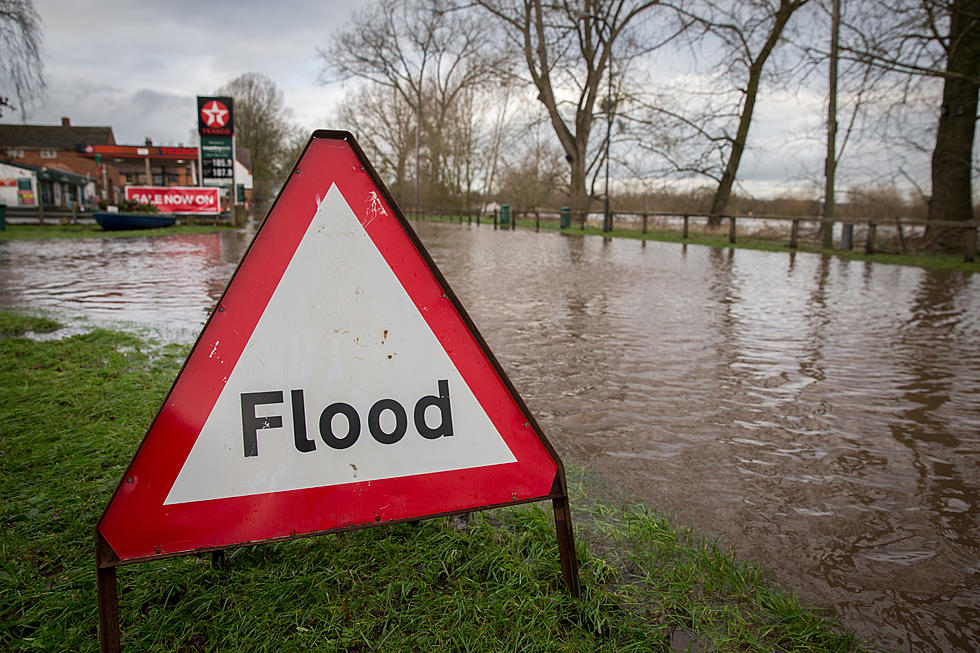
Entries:
[[[489,509],[499,508],[504,506],[518,505],[524,503],[536,503],[539,501],[547,501],[547,500],[550,500],[552,502],[552,508],[554,511],[558,551],[559,551],[559,557],[561,562],[562,577],[565,583],[566,590],[572,596],[577,597],[579,595],[578,561],[575,553],[575,540],[574,540],[574,532],[572,529],[571,510],[569,507],[568,488],[565,480],[564,466],[557,452],[555,451],[551,443],[548,441],[547,437],[544,435],[543,430],[538,425],[531,411],[528,409],[526,403],[521,398],[520,394],[517,392],[517,389],[514,387],[513,383],[510,381],[503,367],[501,367],[499,361],[491,352],[490,347],[487,345],[486,340],[484,340],[483,336],[480,334],[479,330],[476,327],[476,324],[470,318],[469,314],[466,312],[465,308],[460,303],[458,297],[453,292],[452,288],[449,286],[449,283],[446,281],[445,277],[439,271],[435,262],[432,260],[431,256],[426,251],[421,240],[418,238],[414,229],[412,229],[411,225],[409,224],[407,218],[402,213],[399,206],[395,203],[394,199],[391,197],[391,194],[389,193],[387,187],[381,181],[381,178],[378,176],[377,172],[374,170],[373,166],[368,161],[363,150],[357,144],[356,140],[354,139],[354,136],[346,131],[335,131],[335,130],[315,131],[311,135],[309,141],[307,142],[303,154],[300,155],[296,164],[293,166],[293,169],[290,172],[290,176],[288,177],[288,179],[291,179],[293,175],[298,174],[300,163],[303,161],[303,158],[306,152],[310,149],[310,146],[317,139],[345,141],[347,145],[349,145],[349,147],[353,150],[354,155],[360,162],[361,170],[369,175],[370,180],[374,183],[378,192],[384,198],[385,202],[387,203],[387,206],[392,210],[393,217],[397,219],[400,227],[404,231],[404,234],[411,241],[411,244],[415,247],[419,256],[424,261],[424,264],[428,267],[429,271],[432,273],[437,283],[441,286],[444,297],[452,303],[452,307],[455,310],[456,314],[459,316],[462,323],[465,325],[466,329],[469,331],[470,335],[473,337],[474,341],[479,346],[483,356],[489,362],[489,364],[493,368],[493,371],[496,373],[497,377],[505,386],[506,391],[509,393],[510,397],[517,405],[517,408],[524,416],[526,420],[526,424],[533,431],[534,435],[538,438],[540,444],[547,451],[547,454],[554,462],[556,468],[554,481],[551,484],[550,490],[540,496],[519,498],[517,500],[512,500],[512,501],[502,501],[499,503],[468,507],[459,510],[448,510],[444,512],[426,514],[419,517],[383,520],[380,522],[377,522],[375,520],[370,520],[370,521],[365,521],[363,523],[344,524],[339,527],[328,528],[325,530],[298,533],[298,534],[292,534],[283,537],[271,537],[271,538],[248,541],[248,542],[238,542],[238,543],[225,544],[219,546],[207,546],[207,547],[194,548],[192,550],[185,550],[185,551],[160,552],[155,555],[129,557],[126,559],[122,559],[112,549],[112,546],[103,536],[100,528],[102,526],[103,520],[106,517],[106,514],[109,511],[110,506],[113,503],[113,500],[116,498],[116,495],[119,493],[120,488],[126,482],[126,479],[130,474],[130,469],[127,468],[126,473],[124,473],[123,477],[120,479],[119,484],[115,492],[113,493],[112,499],[110,499],[110,501],[107,503],[106,508],[102,513],[102,517],[99,519],[99,523],[96,525],[95,528],[95,566],[96,566],[96,574],[97,574],[99,641],[100,641],[100,646],[102,651],[120,650],[119,601],[118,601],[118,588],[116,582],[117,567],[129,565],[129,564],[147,562],[150,560],[157,560],[161,558],[174,558],[174,557],[180,557],[185,555],[195,555],[204,552],[219,552],[225,549],[238,548],[241,546],[252,546],[264,542],[288,541],[288,540],[294,540],[294,539],[300,539],[306,537],[328,535],[332,533],[342,533],[347,531],[360,530],[364,528],[371,528],[374,526],[386,526],[386,525],[397,524],[402,522],[418,521],[419,519],[431,519],[436,517],[445,517],[448,515],[460,515],[460,514],[478,512],[482,510],[489,510]],[[280,199],[282,198],[287,185],[288,183],[283,185],[283,189],[280,190],[279,195],[277,195],[276,197],[276,200],[273,202],[272,206],[270,206],[265,219],[263,220],[262,224],[259,226],[256,235],[252,240],[252,243],[249,245],[245,254],[242,256],[242,259],[239,261],[239,264],[236,267],[235,272],[232,274],[228,284],[225,287],[225,290],[222,292],[221,298],[218,300],[217,304],[215,305],[214,311],[212,311],[211,315],[208,318],[207,323],[205,323],[204,327],[201,329],[201,333],[198,335],[197,340],[195,341],[193,347],[191,348],[191,353],[188,355],[188,358],[184,361],[184,364],[180,372],[178,372],[178,374],[174,378],[174,382],[171,385],[170,391],[168,392],[168,397],[170,393],[173,392],[174,387],[177,385],[178,380],[180,379],[181,375],[184,373],[185,369],[187,368],[188,362],[190,361],[194,351],[203,344],[202,338],[208,329],[208,325],[211,323],[212,320],[215,319],[215,316],[221,310],[220,307],[222,305],[223,300],[225,299],[226,294],[228,293],[229,288],[234,282],[235,277],[238,274],[239,270],[241,270],[243,262],[248,257],[249,252],[252,251],[253,246],[258,241],[259,234],[261,233],[262,229],[265,228],[266,223],[269,220],[269,217],[273,215],[273,213],[275,212],[276,206],[278,205]],[[163,412],[165,406],[166,406],[166,401],[164,401],[164,405],[160,407],[160,410],[158,411],[153,422],[155,422],[156,419],[160,417],[160,414]],[[151,422],[151,424],[153,422]],[[143,441],[141,442],[140,447],[142,447],[143,444],[146,442],[149,433],[150,431],[148,430],[146,435],[144,435],[143,437]],[[137,449],[137,452],[138,451],[139,449]],[[134,456],[134,460],[135,460],[135,456]],[[132,466],[132,463],[130,463],[130,466]]]

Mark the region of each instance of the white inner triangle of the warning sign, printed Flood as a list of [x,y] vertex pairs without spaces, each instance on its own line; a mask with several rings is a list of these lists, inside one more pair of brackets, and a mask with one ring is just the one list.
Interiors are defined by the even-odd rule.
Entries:
[[166,505],[516,462],[335,184],[315,210]]

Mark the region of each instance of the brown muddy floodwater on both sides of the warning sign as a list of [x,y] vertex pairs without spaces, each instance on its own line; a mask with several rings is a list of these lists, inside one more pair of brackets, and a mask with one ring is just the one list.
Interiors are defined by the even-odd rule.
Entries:
[[[872,644],[980,649],[980,278],[414,224],[563,456]],[[248,239],[0,243],[0,306],[190,341]]]

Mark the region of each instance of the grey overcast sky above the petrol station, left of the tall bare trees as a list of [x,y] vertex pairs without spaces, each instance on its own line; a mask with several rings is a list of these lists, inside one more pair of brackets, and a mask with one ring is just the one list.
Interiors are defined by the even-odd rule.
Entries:
[[[328,127],[341,92],[317,83],[316,49],[356,0],[35,0],[47,91],[31,124],[112,127],[117,143],[192,142],[197,95],[246,72],[282,89],[297,122]],[[4,120],[20,116],[4,116]]]

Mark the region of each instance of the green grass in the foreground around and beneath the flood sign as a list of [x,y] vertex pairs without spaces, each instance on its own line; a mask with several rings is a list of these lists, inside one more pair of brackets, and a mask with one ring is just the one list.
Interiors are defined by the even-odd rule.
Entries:
[[[185,354],[102,330],[0,340],[0,649],[97,649],[93,528]],[[550,506],[513,507],[123,567],[123,648],[860,650],[758,567],[572,475],[580,599]]]

